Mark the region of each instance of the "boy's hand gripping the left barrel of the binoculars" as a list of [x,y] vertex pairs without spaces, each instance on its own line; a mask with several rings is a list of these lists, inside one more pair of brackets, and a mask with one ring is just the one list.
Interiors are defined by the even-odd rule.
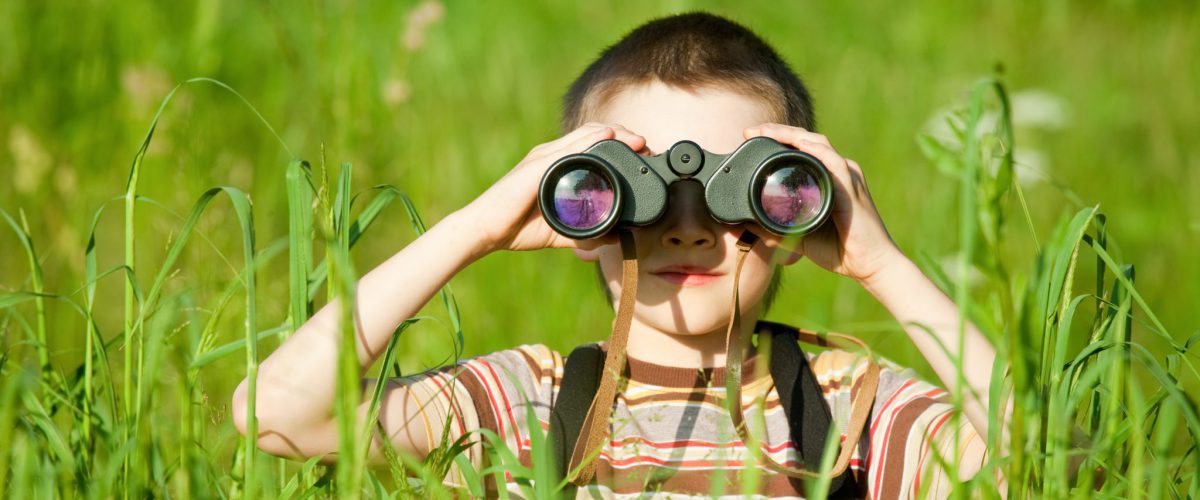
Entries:
[[593,249],[614,242],[616,235],[592,240],[571,240],[556,233],[541,217],[538,206],[538,185],[546,169],[558,158],[582,152],[595,143],[617,139],[634,151],[646,147],[646,139],[619,125],[586,124],[566,135],[535,146],[492,187],[458,211],[466,222],[475,228],[480,254],[510,249],[532,251],[539,248]]

